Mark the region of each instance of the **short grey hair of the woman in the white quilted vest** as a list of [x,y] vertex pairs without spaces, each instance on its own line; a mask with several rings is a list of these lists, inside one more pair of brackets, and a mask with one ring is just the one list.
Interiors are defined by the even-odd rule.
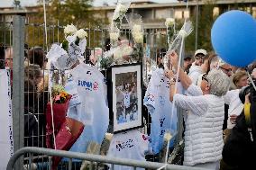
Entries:
[[210,94],[223,96],[229,90],[231,81],[221,70],[211,70],[206,78],[210,85]]

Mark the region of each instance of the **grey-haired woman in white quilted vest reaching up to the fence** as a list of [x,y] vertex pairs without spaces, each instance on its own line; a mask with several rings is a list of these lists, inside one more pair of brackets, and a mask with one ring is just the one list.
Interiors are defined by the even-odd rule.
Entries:
[[[178,70],[178,56],[169,55],[173,67]],[[173,78],[172,71],[167,72],[169,79]],[[179,79],[187,95],[176,94],[175,82],[170,83],[170,100],[179,107],[189,111],[185,120],[185,149],[184,166],[219,169],[222,158],[224,99],[230,81],[220,70],[212,70],[203,76],[201,89],[193,85],[186,73],[179,69]]]

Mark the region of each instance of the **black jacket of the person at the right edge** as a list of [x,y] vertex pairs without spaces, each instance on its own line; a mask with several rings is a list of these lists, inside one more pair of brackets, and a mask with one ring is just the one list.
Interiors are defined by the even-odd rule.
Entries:
[[235,170],[256,169],[256,103],[251,103],[251,124],[253,142],[242,112],[224,145],[224,163],[233,166]]

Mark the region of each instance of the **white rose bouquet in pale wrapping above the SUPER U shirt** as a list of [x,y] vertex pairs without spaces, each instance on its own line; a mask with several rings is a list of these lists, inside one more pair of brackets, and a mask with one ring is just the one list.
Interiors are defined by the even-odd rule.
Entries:
[[64,28],[65,39],[63,42],[53,44],[46,55],[50,62],[59,70],[72,67],[78,58],[83,58],[87,47],[87,31],[78,30],[73,24]]

